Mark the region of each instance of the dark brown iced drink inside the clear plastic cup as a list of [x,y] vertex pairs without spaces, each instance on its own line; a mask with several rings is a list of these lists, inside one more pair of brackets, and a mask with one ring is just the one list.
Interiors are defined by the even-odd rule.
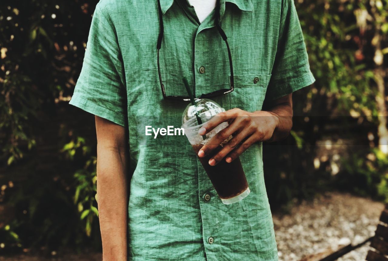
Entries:
[[[193,145],[194,151],[198,153],[202,146],[203,145]],[[239,158],[230,163],[227,163],[225,159],[223,159],[215,166],[209,165],[210,158],[216,155],[221,149],[222,146],[218,146],[211,152],[211,155],[207,155],[203,158],[198,157],[198,159],[201,161],[206,173],[208,173],[210,181],[216,189],[218,196],[220,196],[221,199],[230,199],[246,191],[248,189],[248,182],[246,181],[245,173]]]

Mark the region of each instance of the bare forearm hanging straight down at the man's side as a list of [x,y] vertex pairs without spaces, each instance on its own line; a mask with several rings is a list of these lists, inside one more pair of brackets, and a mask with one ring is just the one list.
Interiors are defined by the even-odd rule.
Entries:
[[97,145],[97,194],[103,261],[127,258],[127,177],[124,149]]

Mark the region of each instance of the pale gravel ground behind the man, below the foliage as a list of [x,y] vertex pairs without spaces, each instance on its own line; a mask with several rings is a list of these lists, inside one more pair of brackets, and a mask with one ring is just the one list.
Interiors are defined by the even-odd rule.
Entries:
[[[327,193],[311,202],[294,206],[288,215],[274,213],[279,261],[309,259],[312,254],[357,244],[374,235],[382,203],[342,193]],[[352,251],[338,261],[365,260],[368,245]],[[323,257],[323,256],[322,256]],[[0,261],[100,261],[101,254],[40,256],[0,256]]]

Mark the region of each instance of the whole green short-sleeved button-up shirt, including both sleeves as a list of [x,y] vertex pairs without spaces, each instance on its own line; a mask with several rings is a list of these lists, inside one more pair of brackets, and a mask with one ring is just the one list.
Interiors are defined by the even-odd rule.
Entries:
[[[261,110],[264,98],[314,82],[293,0],[221,0],[220,6],[235,89],[213,100],[225,110]],[[215,11],[199,24],[185,0],[161,0],[161,9],[166,94],[186,95],[182,77],[197,96],[229,88],[227,48]],[[251,193],[225,205],[185,136],[145,136],[146,125],[180,127],[188,105],[163,100],[156,63],[159,24],[157,1],[101,0],[70,101],[128,128],[128,260],[277,260],[262,143],[240,156]]]

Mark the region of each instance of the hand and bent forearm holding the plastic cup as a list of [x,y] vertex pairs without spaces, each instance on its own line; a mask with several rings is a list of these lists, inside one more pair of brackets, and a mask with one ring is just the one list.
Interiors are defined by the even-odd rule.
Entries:
[[223,148],[209,160],[211,166],[217,165],[224,158],[230,163],[256,142],[275,141],[288,136],[292,127],[291,94],[272,101],[270,106],[268,111],[256,112],[234,108],[211,118],[199,130],[199,135],[205,135],[222,122],[229,122],[229,126],[211,138],[198,152],[198,156],[202,158],[209,155],[232,135],[232,139],[223,144]]

